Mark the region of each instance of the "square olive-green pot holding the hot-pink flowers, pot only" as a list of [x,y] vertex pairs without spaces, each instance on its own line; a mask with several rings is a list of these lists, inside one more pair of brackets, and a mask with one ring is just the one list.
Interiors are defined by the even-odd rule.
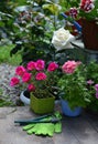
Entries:
[[30,107],[36,114],[52,113],[54,111],[55,97],[37,99],[31,94]]

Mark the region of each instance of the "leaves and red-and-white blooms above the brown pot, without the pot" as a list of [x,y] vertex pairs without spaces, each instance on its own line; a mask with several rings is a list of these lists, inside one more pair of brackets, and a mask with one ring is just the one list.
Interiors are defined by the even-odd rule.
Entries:
[[98,0],[78,0],[76,3],[77,4],[73,6],[73,1],[70,1],[65,13],[74,20],[80,18],[87,20],[98,20]]

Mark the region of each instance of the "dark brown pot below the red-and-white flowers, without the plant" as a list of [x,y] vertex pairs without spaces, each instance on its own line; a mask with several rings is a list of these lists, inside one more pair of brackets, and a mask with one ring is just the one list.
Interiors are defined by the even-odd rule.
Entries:
[[83,42],[85,49],[98,51],[98,24],[96,21],[83,20]]

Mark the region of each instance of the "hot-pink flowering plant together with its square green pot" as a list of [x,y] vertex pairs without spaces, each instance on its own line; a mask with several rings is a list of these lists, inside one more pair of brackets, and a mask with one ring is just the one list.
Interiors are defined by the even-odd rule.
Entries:
[[46,66],[44,60],[30,61],[25,66],[15,69],[15,76],[11,79],[10,85],[22,86],[30,92],[30,107],[35,113],[50,113],[54,110],[57,69],[58,64],[55,62],[50,62]]

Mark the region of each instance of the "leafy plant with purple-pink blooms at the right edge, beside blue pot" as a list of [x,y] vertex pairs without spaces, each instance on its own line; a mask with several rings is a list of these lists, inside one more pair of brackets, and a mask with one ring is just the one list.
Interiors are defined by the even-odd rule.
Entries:
[[91,95],[91,103],[86,110],[98,115],[98,63],[96,61],[87,64],[87,88]]

